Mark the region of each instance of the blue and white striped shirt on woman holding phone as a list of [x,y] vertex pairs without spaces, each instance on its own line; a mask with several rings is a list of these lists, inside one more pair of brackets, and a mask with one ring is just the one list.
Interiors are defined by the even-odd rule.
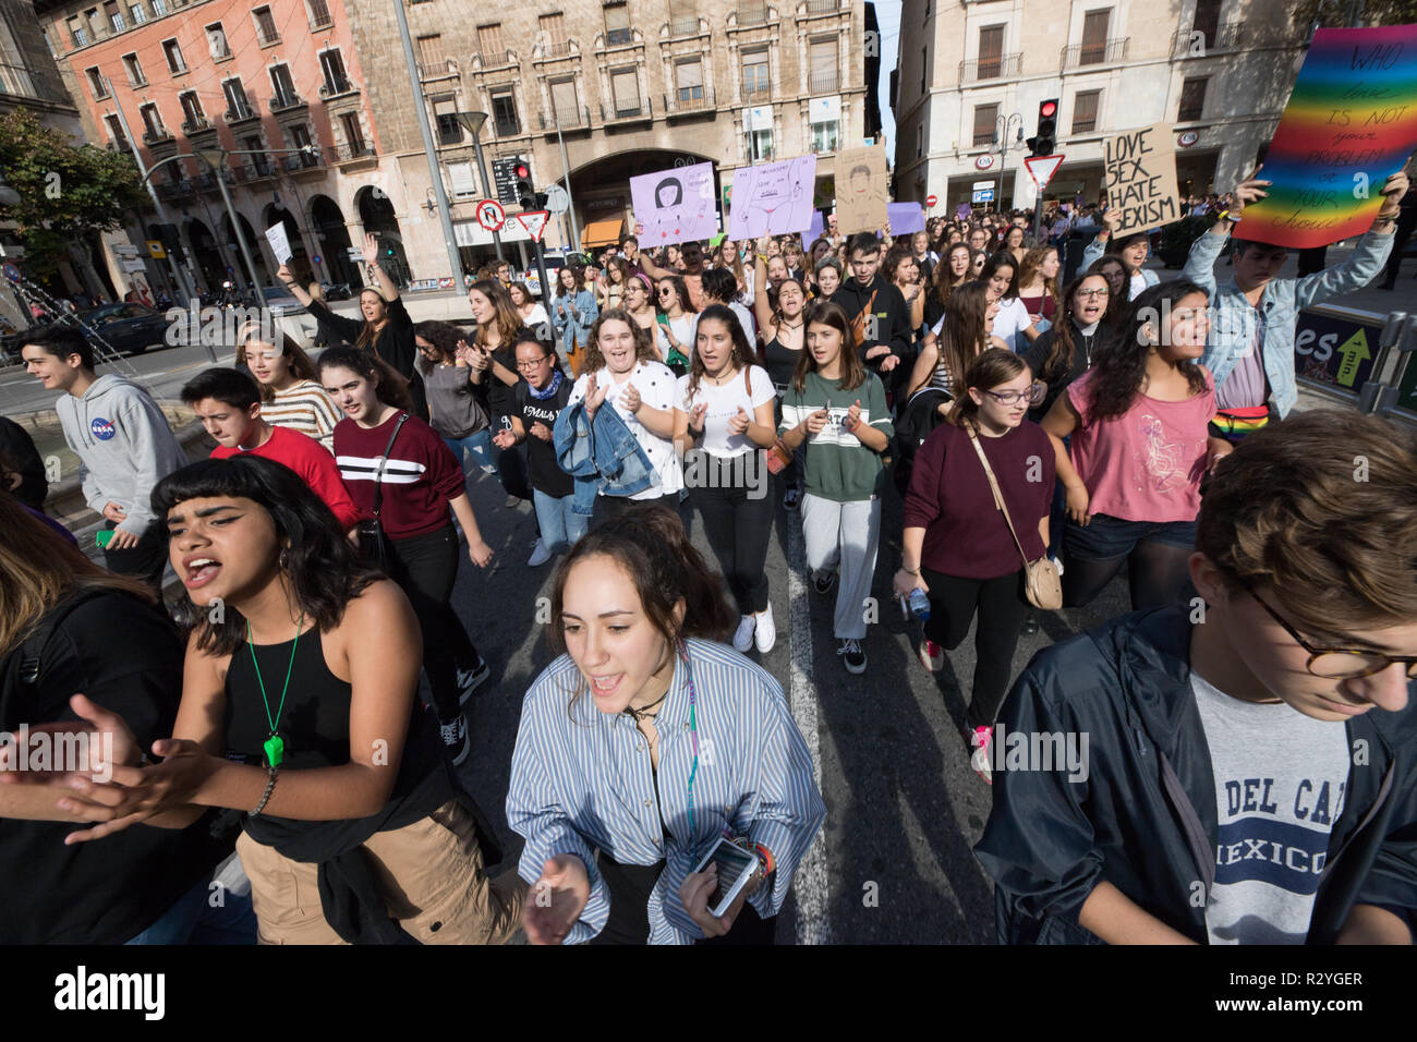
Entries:
[[665,859],[649,899],[649,943],[690,944],[703,931],[679,900],[679,887],[724,828],[772,852],[772,886],[748,899],[767,917],[782,907],[792,873],[826,818],[812,757],[782,686],[731,648],[700,639],[687,644],[699,729],[691,836],[694,747],[689,685],[677,655],[669,696],[655,719],[657,798],[648,743],[635,722],[625,713],[601,713],[588,690],[571,705],[585,680],[570,655],[541,672],[521,705],[507,824],[526,838],[519,870],[529,883],[541,878],[543,863],[557,853],[585,862],[591,897],[568,944],[595,937],[609,914],[595,849],[625,865]]

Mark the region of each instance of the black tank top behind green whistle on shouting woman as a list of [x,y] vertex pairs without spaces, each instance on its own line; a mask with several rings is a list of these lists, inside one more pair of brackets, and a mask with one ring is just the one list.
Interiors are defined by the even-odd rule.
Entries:
[[[245,641],[231,654],[227,668],[227,712],[225,736],[227,758],[249,764],[265,764],[265,740],[271,737],[266,723],[266,707],[261,700],[261,685],[251,663],[251,649],[255,646],[256,662],[261,663],[261,678],[265,680],[265,695],[275,717],[281,705],[281,689],[285,685],[286,668],[290,669],[290,686],[285,696],[285,709],[276,720],[276,729],[285,740],[282,770],[305,770],[310,767],[339,767],[350,760],[350,693],[351,686],[334,676],[324,663],[324,648],[319,627],[310,627],[300,634],[295,648],[295,663],[290,663],[290,649],[295,639],[282,644],[249,645]],[[412,722],[404,741],[404,757],[400,763],[395,795],[411,781],[427,773],[429,763],[436,763],[438,736],[432,719],[419,712],[414,702]]]

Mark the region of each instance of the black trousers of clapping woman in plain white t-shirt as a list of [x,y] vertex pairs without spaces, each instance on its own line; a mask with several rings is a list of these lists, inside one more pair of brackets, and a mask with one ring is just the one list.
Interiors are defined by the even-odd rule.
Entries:
[[[764,566],[774,515],[768,498],[768,468],[762,465],[761,454],[755,454],[758,458],[751,466],[734,466],[730,459],[704,455],[707,459],[699,468],[707,482],[690,489],[689,498],[703,517],[704,534],[728,581],[738,614],[767,611],[768,576]],[[754,476],[754,488],[747,486],[748,476]]]

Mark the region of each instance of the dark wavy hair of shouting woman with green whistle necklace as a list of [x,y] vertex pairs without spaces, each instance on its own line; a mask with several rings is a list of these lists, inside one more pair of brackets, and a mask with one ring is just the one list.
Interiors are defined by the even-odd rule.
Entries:
[[[249,499],[271,515],[276,539],[285,547],[281,570],[295,603],[322,632],[339,625],[346,605],[383,576],[354,556],[334,513],[295,471],[262,456],[242,452],[188,464],[157,482],[152,506],[159,517],[166,517],[190,499],[217,496]],[[197,634],[201,651],[230,655],[245,639],[245,618],[231,605],[220,622],[213,621],[208,605],[191,598],[179,611],[186,628]]]

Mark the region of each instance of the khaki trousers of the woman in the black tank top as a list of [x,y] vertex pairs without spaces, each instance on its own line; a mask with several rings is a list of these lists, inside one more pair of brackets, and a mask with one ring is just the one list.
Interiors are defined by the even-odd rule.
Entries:
[[[391,917],[422,944],[504,944],[521,927],[527,886],[489,879],[472,815],[449,801],[364,844]],[[320,907],[319,866],[290,861],[245,832],[237,853],[251,878],[262,944],[344,944]]]

